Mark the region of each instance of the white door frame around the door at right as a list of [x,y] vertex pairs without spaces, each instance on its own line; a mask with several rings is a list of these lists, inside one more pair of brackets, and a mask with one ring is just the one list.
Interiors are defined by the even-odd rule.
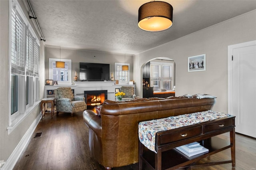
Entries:
[[238,43],[234,45],[228,45],[228,113],[233,114],[233,62],[232,55],[233,50],[242,47],[249,47],[256,45],[256,40],[244,43]]

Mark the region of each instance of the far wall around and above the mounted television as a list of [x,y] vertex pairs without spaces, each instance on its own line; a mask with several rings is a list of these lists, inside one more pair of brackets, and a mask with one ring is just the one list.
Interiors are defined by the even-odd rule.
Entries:
[[[61,56],[60,56],[61,54]],[[66,49],[60,47],[46,46],[45,47],[45,79],[49,77],[49,58],[71,59],[72,60],[72,81],[77,72],[79,79],[79,62],[85,63],[106,63],[110,64],[111,73],[115,73],[114,63],[124,63],[124,54],[104,53],[99,51],[86,51],[78,49]],[[125,63],[130,64],[130,80],[133,80],[134,55],[125,55]],[[115,76],[115,75],[114,75]],[[110,79],[110,77],[109,77]]]

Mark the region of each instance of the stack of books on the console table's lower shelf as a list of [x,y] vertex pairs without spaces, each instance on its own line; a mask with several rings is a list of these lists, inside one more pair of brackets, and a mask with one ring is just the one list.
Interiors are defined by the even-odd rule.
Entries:
[[198,142],[185,144],[185,145],[176,147],[176,149],[178,149],[180,152],[186,154],[189,157],[209,151],[209,149],[205,148],[204,146],[201,146],[200,143]]

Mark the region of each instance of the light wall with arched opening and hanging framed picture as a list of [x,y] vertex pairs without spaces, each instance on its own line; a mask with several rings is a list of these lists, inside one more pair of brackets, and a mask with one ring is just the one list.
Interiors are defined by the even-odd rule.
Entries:
[[[228,45],[252,40],[256,40],[256,10],[135,55],[134,74],[142,75],[141,66],[152,58],[174,59],[176,96],[215,95],[218,98],[213,110],[227,112]],[[206,54],[206,71],[188,72],[188,57],[200,54]],[[141,80],[142,76],[135,77],[140,96]]]

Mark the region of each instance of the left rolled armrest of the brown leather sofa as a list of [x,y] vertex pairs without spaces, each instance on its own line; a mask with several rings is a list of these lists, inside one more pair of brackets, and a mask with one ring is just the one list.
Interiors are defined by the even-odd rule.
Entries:
[[94,131],[94,133],[101,137],[101,118],[92,110],[86,110],[83,112],[84,123]]

